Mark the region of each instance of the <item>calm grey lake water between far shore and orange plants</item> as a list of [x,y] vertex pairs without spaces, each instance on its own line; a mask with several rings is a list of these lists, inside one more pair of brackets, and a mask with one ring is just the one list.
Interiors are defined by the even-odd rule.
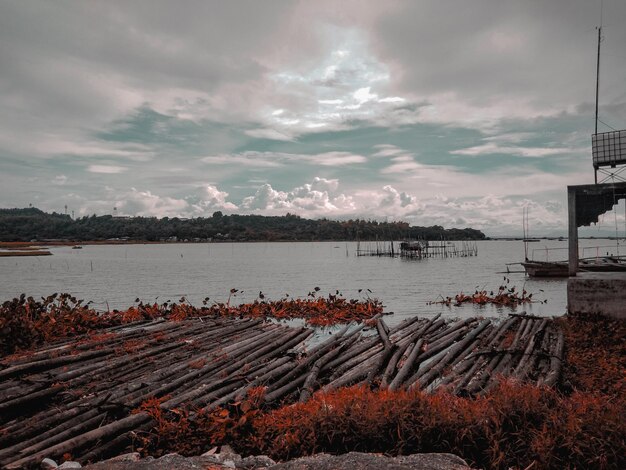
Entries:
[[[593,243],[592,243],[593,242]],[[582,245],[611,245],[608,240],[583,240]],[[536,259],[565,258],[567,242],[530,243]],[[503,274],[506,263],[520,261],[519,241],[478,243],[478,256],[469,258],[403,260],[356,257],[356,245],[345,242],[238,243],[89,246],[82,250],[53,247],[53,256],[0,258],[0,299],[26,293],[46,296],[69,292],[92,300],[99,309],[125,308],[143,301],[178,301],[182,296],[201,305],[202,299],[226,301],[231,288],[242,291],[231,303],[266,298],[306,297],[314,287],[326,295],[339,290],[347,298],[364,298],[367,289],[380,299],[390,324],[406,316],[499,316],[510,312],[493,306],[446,307],[428,305],[439,296],[477,288],[497,290],[504,277],[510,286],[525,288],[537,300],[518,307],[535,315],[561,315],[566,310],[565,279],[532,280],[523,273]],[[603,251],[615,251],[603,248]],[[622,248],[624,250],[624,248]],[[593,253],[592,253],[593,251]],[[588,250],[585,255],[595,254]],[[511,266],[519,270],[521,266]],[[362,292],[359,293],[359,289]]]

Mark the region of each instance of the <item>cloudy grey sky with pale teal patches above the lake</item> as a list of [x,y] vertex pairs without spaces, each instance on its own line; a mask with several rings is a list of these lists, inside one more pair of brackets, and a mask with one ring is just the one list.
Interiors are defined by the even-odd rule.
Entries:
[[600,23],[604,132],[623,0],[2,0],[0,207],[566,234]]

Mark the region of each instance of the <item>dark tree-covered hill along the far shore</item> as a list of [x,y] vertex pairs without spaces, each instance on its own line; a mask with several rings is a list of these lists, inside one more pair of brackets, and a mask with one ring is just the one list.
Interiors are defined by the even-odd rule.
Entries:
[[86,216],[46,213],[36,208],[0,209],[0,241],[108,240],[277,241],[277,240],[482,240],[471,228],[409,226],[406,222],[311,220],[297,215],[224,215],[177,217]]

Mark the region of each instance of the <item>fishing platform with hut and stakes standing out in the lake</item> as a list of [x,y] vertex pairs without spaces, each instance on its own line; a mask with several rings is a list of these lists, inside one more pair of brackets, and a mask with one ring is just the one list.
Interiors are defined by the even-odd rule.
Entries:
[[395,258],[426,259],[426,258],[453,258],[478,255],[476,242],[450,242],[411,240],[403,242],[357,242],[357,256],[388,256]]

